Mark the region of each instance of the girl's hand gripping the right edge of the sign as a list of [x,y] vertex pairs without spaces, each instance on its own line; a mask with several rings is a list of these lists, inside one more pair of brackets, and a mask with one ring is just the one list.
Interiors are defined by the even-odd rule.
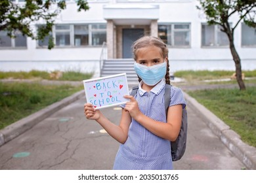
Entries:
[[125,105],[125,110],[128,111],[132,118],[135,120],[139,117],[139,114],[141,114],[139,110],[139,105],[137,103],[137,100],[132,95],[125,95],[126,99],[130,99],[131,101],[127,102]]

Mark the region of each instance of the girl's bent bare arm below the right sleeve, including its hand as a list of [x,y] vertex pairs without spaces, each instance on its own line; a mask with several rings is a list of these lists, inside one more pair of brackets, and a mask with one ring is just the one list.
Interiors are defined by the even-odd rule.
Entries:
[[126,96],[131,99],[126,103],[125,110],[129,111],[132,118],[143,125],[148,131],[154,133],[158,137],[175,141],[181,129],[182,105],[174,105],[168,108],[167,123],[158,122],[142,114],[135,98],[131,95]]

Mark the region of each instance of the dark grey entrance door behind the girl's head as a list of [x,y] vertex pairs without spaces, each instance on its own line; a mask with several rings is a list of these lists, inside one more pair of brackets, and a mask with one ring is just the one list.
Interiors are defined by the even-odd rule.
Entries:
[[144,29],[123,29],[123,58],[133,58],[131,45],[144,35]]

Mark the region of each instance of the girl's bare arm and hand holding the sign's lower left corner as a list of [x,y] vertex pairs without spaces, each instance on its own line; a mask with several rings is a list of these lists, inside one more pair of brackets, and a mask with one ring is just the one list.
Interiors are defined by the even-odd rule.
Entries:
[[129,125],[131,124],[131,116],[125,110],[122,110],[119,125],[113,124],[106,118],[100,110],[95,110],[91,103],[86,103],[84,107],[85,116],[89,120],[96,120],[108,134],[120,143],[124,143],[128,137]]

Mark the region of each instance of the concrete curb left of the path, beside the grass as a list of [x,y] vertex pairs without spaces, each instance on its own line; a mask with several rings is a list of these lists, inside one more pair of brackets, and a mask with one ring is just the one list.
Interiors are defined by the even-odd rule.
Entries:
[[0,146],[3,144],[11,141],[15,137],[18,137],[18,135],[21,135],[28,129],[32,128],[33,125],[38,124],[54,112],[60,110],[60,108],[66,107],[70,103],[76,101],[77,99],[83,97],[85,95],[85,91],[81,90],[80,92],[76,92],[73,95],[70,95],[69,97],[66,97],[62,99],[61,101],[58,101],[56,103],[53,103],[52,105],[49,105],[48,107],[45,107],[30,116],[27,116],[25,118],[22,118],[21,120],[18,120],[17,122],[5,127],[4,129],[0,130]]

